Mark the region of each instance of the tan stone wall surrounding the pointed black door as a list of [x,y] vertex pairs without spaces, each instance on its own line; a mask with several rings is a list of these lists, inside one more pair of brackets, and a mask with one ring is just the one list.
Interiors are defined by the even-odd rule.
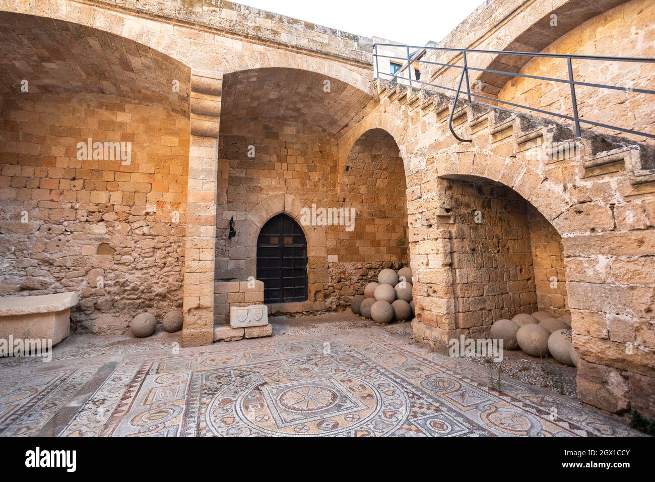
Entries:
[[[248,157],[250,146],[254,157]],[[256,251],[240,233],[250,235],[251,213],[260,203],[282,194],[309,209],[355,210],[352,230],[324,227],[325,245],[318,251],[308,239],[308,303],[290,304],[289,310],[343,309],[380,270],[407,264],[405,176],[398,146],[388,134],[362,136],[340,174],[336,141],[323,132],[273,121],[226,122],[221,125],[219,162],[229,166],[229,180],[227,204],[217,210],[217,281],[255,276]],[[261,221],[273,214],[265,212]],[[225,226],[232,217],[237,236],[230,240]]]

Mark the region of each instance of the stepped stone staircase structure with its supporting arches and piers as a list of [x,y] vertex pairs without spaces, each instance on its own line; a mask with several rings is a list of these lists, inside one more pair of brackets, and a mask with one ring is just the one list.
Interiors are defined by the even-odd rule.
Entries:
[[[455,312],[449,231],[434,226],[447,218],[440,180],[477,176],[500,182],[529,201],[562,238],[573,343],[579,350],[578,396],[608,411],[637,407],[652,413],[655,386],[652,305],[655,237],[652,154],[612,136],[575,138],[572,127],[533,115],[453,99],[378,81],[379,105],[339,138],[343,162],[356,139],[381,127],[398,142],[407,174],[411,267],[426,296],[432,325],[421,344],[449,339]],[[650,211],[649,211],[650,210]],[[647,268],[648,267],[648,268]],[[430,294],[428,294],[430,293]],[[449,301],[450,300],[450,301]],[[421,327],[419,327],[420,331]],[[630,348],[631,347],[631,348]],[[637,348],[641,347],[641,348]],[[631,351],[630,355],[626,350]]]

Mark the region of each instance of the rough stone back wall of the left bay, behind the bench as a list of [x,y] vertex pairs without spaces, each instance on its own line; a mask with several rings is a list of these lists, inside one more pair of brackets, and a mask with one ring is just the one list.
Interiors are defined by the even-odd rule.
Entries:
[[[77,292],[77,332],[119,333],[141,311],[181,306],[188,119],[36,94],[5,102],[0,135],[1,294]],[[78,159],[88,138],[131,142],[131,163]]]

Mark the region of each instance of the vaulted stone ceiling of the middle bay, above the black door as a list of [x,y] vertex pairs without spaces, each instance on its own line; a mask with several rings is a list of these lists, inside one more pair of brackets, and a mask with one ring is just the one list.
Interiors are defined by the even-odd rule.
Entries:
[[371,100],[362,90],[320,73],[291,68],[238,71],[223,77],[221,131],[260,121],[335,135],[362,119]]

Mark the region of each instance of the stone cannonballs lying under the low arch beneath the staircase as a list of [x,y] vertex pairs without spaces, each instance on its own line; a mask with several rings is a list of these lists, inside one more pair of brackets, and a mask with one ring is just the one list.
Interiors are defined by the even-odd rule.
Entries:
[[521,348],[533,357],[553,355],[559,363],[578,366],[569,314],[559,319],[546,311],[535,311],[531,315],[521,313],[511,320],[499,319],[491,325],[491,338],[502,338],[505,350]]

